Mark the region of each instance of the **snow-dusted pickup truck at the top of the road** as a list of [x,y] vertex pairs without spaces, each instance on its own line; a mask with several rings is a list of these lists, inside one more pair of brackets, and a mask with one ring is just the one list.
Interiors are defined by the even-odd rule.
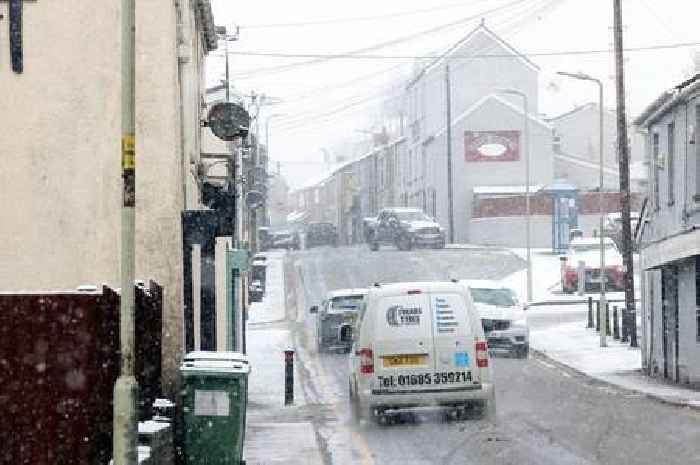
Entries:
[[379,250],[381,245],[394,245],[399,250],[419,246],[441,249],[445,247],[445,232],[421,209],[386,208],[377,216],[369,238],[370,250]]

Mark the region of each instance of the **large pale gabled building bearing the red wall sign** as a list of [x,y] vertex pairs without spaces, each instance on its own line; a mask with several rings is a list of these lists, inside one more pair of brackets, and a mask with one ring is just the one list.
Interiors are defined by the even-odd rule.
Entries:
[[[489,57],[489,55],[491,55]],[[449,68],[449,69],[448,69]],[[447,226],[446,74],[451,99],[451,149],[455,241],[479,242],[471,232],[478,186],[525,183],[529,146],[532,184],[553,180],[551,127],[537,118],[539,68],[485,24],[423,68],[407,87],[408,134],[398,157],[399,199],[423,208]],[[530,139],[525,141],[527,96]],[[516,228],[515,234],[522,232]]]

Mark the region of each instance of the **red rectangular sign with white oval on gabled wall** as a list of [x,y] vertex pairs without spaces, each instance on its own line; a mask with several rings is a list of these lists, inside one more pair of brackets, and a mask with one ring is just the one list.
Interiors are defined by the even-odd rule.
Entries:
[[520,131],[464,131],[465,161],[517,161]]

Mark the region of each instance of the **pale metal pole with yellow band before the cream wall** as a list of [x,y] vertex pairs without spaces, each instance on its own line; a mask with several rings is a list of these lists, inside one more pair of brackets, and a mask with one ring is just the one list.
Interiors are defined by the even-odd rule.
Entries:
[[136,399],[138,384],[134,376],[134,269],[136,207],[136,137],[135,137],[135,0],[121,0],[121,110],[122,110],[122,217],[121,217],[121,298],[119,335],[121,372],[114,383],[115,465],[136,465]]

